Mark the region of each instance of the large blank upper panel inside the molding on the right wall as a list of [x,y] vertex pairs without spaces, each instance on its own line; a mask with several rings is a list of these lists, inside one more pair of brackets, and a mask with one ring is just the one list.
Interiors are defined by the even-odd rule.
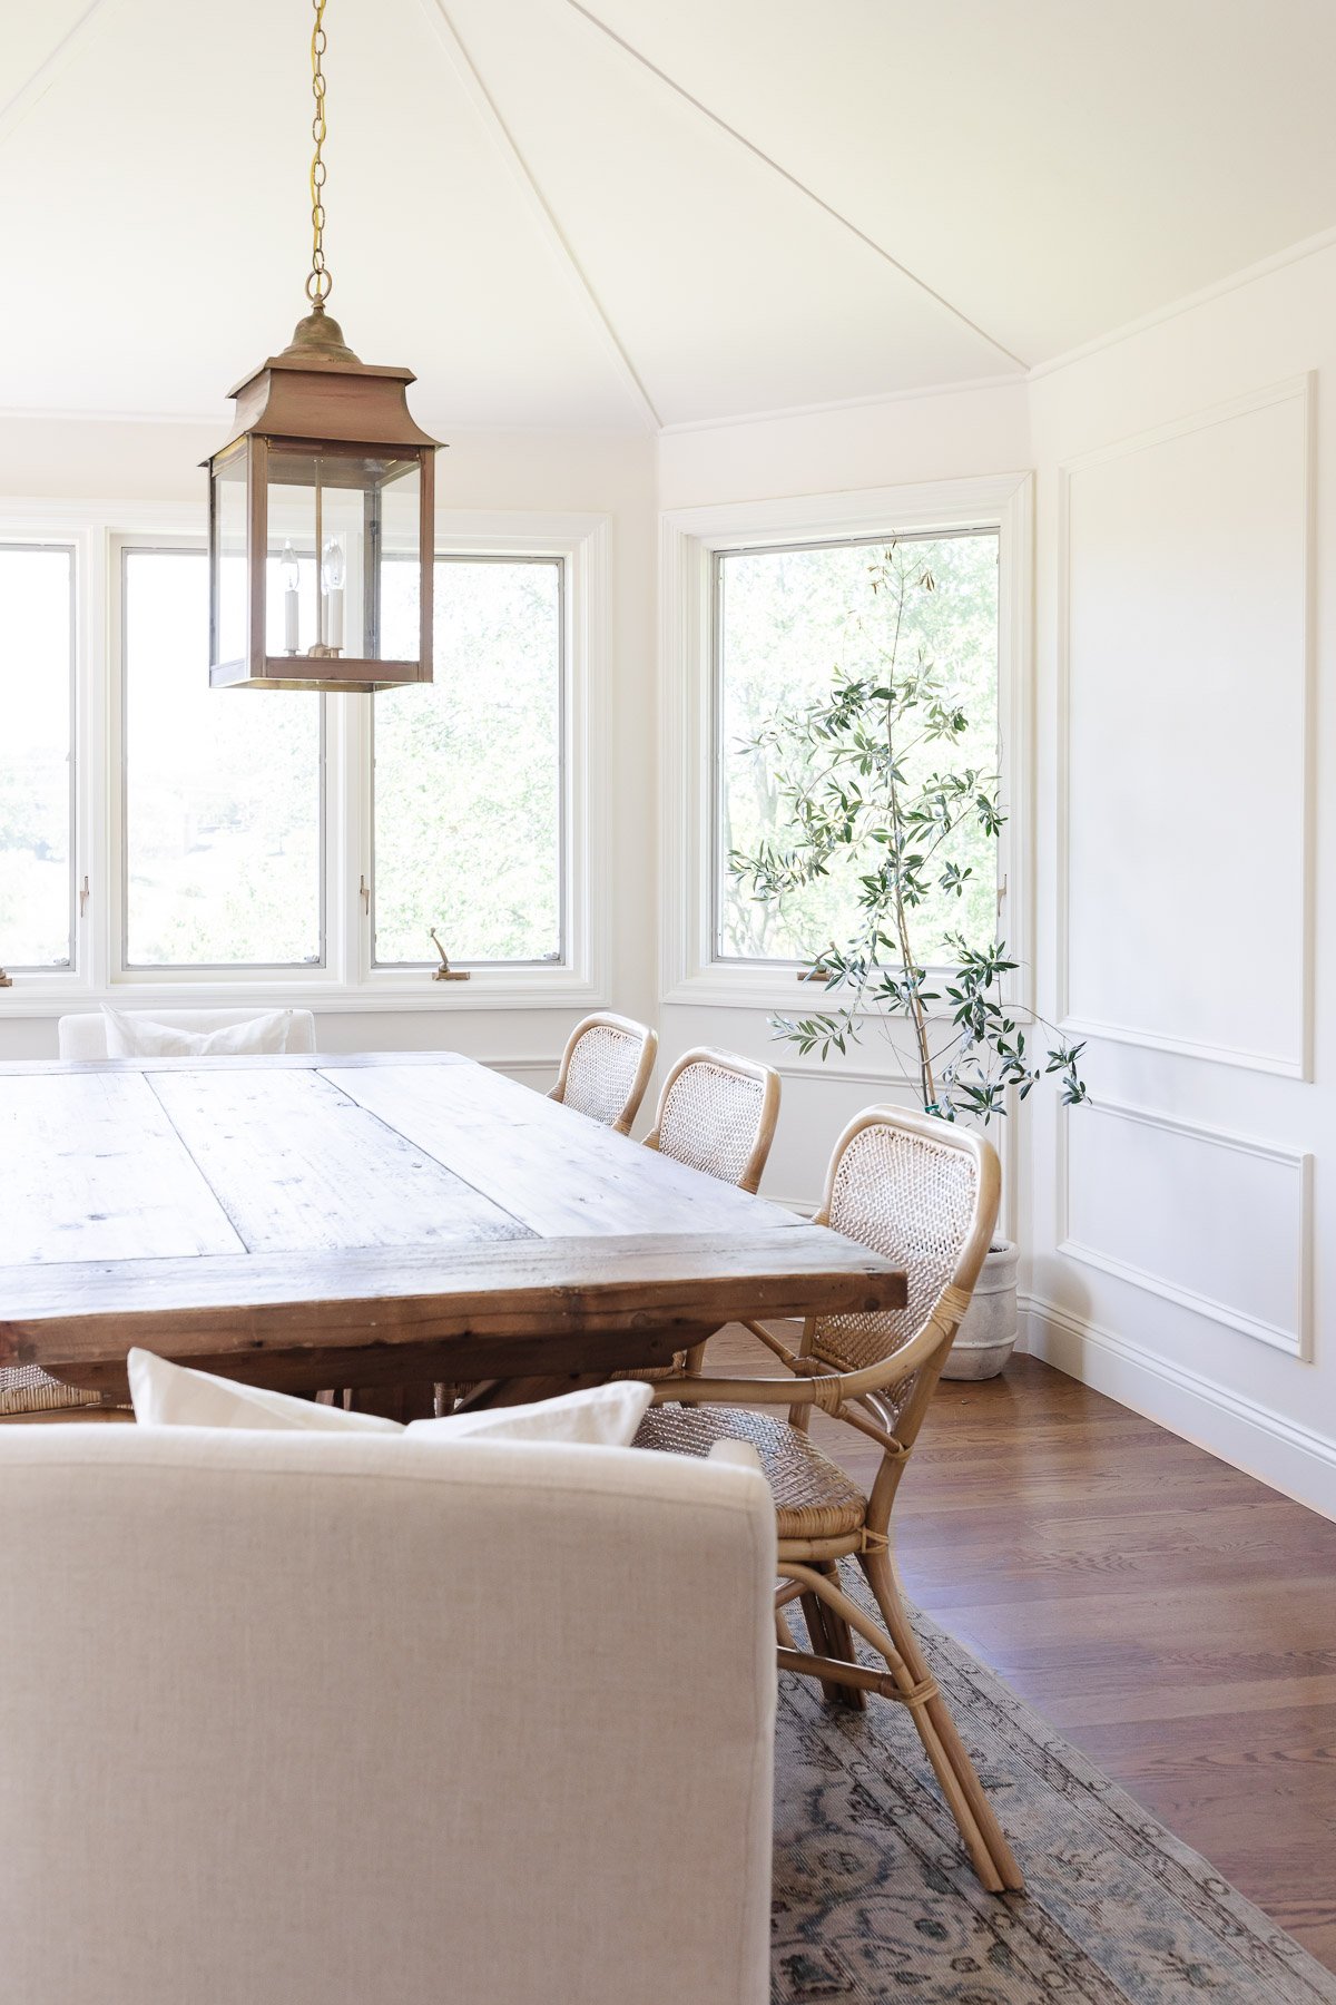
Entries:
[[1062,469],[1064,1015],[1290,1077],[1310,1075],[1308,437],[1300,377]]

